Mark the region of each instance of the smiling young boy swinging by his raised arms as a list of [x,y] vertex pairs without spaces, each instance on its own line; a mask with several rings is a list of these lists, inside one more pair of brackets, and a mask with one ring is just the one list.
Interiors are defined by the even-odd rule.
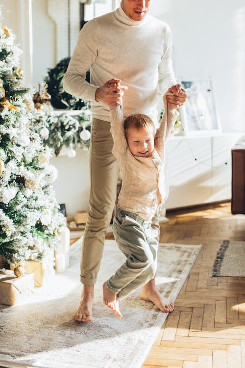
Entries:
[[[115,83],[110,88],[118,88]],[[115,91],[116,91],[115,90]],[[181,88],[174,88],[181,95]],[[163,98],[164,113],[159,128],[145,114],[129,115],[125,121],[122,106],[111,106],[113,155],[118,158],[122,175],[113,232],[126,262],[103,284],[103,300],[119,318],[119,300],[153,279],[156,273],[158,243],[153,237],[151,219],[166,196],[164,185],[165,146],[176,121]],[[166,311],[174,305],[168,303]]]

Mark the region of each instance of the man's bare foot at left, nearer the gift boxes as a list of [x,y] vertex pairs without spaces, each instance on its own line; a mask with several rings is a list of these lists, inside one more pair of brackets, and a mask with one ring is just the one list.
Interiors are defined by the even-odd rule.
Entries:
[[94,303],[94,285],[83,285],[79,307],[73,314],[77,321],[88,322],[92,320],[92,308]]

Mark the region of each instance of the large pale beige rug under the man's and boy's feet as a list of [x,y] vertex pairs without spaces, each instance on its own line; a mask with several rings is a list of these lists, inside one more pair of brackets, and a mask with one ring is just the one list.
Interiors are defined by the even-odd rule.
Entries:
[[[49,278],[25,304],[0,305],[0,366],[7,368],[137,368],[143,364],[166,313],[139,298],[137,290],[120,303],[118,319],[102,301],[102,283],[124,256],[106,240],[95,289],[94,319],[71,317],[80,300],[81,239],[71,246],[70,267]],[[174,301],[200,245],[160,244],[156,283]]]

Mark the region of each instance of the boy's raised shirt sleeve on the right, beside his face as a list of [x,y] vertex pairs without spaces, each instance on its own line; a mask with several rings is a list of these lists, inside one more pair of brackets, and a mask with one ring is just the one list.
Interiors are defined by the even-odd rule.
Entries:
[[176,121],[175,109],[173,109],[168,104],[168,100],[166,97],[167,95],[172,95],[172,92],[166,92],[165,95],[163,96],[164,111],[162,119],[160,121],[160,126],[155,134],[155,148],[160,155],[163,152],[163,148],[168,138],[170,137],[170,134],[173,130]]

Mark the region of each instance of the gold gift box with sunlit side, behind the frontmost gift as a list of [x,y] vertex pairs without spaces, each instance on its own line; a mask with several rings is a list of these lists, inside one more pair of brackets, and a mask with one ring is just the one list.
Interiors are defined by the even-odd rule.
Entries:
[[[43,261],[27,261],[27,264],[23,265],[26,273],[32,273],[34,275],[34,286],[40,288],[44,285],[44,282],[49,276],[54,275],[54,252],[49,250],[49,254],[43,259]],[[15,266],[10,264],[10,269],[13,270]]]

